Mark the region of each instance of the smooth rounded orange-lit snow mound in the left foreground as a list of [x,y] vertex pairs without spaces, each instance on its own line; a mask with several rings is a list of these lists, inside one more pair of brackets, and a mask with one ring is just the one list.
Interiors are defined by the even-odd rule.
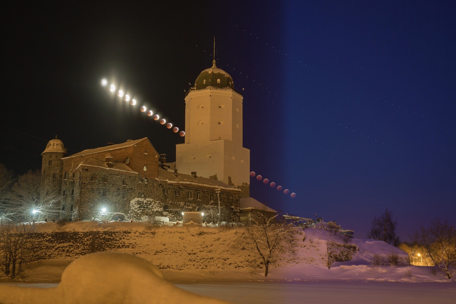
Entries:
[[228,303],[166,282],[152,263],[123,253],[92,253],[68,265],[55,288],[0,285],[0,303]]

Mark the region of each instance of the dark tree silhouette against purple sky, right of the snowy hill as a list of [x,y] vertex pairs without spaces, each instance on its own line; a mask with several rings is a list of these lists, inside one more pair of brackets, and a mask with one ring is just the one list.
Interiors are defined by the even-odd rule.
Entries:
[[388,209],[380,217],[372,220],[372,228],[368,238],[385,241],[393,246],[399,245],[399,237],[396,236],[397,222],[393,219],[393,213]]

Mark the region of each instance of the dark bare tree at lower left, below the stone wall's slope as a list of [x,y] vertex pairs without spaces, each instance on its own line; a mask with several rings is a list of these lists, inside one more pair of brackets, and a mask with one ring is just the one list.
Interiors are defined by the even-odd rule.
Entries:
[[0,224],[0,268],[5,276],[14,279],[30,260],[33,231],[28,224]]

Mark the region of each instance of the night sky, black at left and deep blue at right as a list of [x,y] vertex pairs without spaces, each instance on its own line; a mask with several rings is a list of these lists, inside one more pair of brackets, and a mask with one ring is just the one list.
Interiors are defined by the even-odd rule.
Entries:
[[148,137],[175,161],[183,138],[139,106],[183,129],[215,35],[217,66],[244,89],[250,169],[297,194],[252,179],[252,197],[358,237],[386,208],[403,240],[454,223],[454,1],[165,3],[3,5],[1,162],[41,167],[56,134],[69,154]]

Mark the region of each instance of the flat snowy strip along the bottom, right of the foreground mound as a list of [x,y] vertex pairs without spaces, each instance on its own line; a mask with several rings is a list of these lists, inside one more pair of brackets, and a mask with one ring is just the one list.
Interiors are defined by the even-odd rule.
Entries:
[[236,304],[269,303],[455,303],[454,283],[301,282],[176,284]]

